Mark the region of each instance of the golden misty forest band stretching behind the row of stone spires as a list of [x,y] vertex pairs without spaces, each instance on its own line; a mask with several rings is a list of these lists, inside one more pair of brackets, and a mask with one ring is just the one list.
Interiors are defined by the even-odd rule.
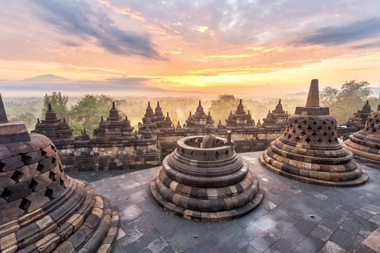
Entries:
[[[356,80],[345,82],[340,89],[331,86],[320,90],[320,105],[330,107],[337,124],[345,123],[353,114],[362,108],[369,100],[372,110],[378,106],[378,98],[369,84],[365,81]],[[377,94],[376,94],[377,95]],[[255,123],[266,118],[269,111],[275,109],[281,99],[281,103],[288,114],[293,114],[297,106],[304,106],[307,92],[285,94],[281,97],[250,96],[243,98],[242,103],[245,111],[252,115]],[[157,101],[164,115],[169,116],[177,126],[185,124],[190,112],[193,114],[198,106],[199,100],[207,114],[210,114],[218,125],[219,121],[225,124],[229,114],[237,109],[239,99],[242,97],[232,94],[200,95],[196,96],[109,96],[104,94],[86,94],[85,96],[66,96],[61,92],[52,92],[44,97],[3,97],[4,106],[9,119],[21,119],[29,130],[34,129],[37,118],[45,119],[48,103],[57,113],[58,118],[65,118],[74,129],[74,134],[79,134],[83,128],[92,133],[97,127],[101,116],[108,117],[108,111],[115,101],[116,108],[122,117],[127,116],[131,125],[138,129],[138,123],[142,122],[148,102],[154,108]]]

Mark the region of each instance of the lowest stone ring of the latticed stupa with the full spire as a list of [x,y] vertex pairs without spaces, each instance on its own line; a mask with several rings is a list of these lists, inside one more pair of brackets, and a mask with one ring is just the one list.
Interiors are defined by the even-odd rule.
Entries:
[[[276,162],[279,163],[278,161],[276,161]],[[300,175],[292,174],[292,173],[286,172],[284,170],[278,169],[278,168],[268,164],[265,161],[263,155],[260,156],[260,163],[263,166],[265,166],[265,168],[267,168],[267,169],[269,169],[269,170],[271,170],[271,171],[273,171],[279,175],[285,176],[287,178],[290,178],[290,179],[293,179],[296,181],[309,183],[309,184],[317,184],[317,185],[332,186],[332,187],[352,187],[352,186],[359,186],[359,185],[365,184],[368,180],[368,175],[364,170],[362,170],[362,174],[359,178],[356,178],[356,179],[351,180],[351,181],[327,181],[327,180],[321,180],[321,179],[317,179],[317,178],[300,176]],[[357,166],[360,168],[359,165],[357,165]]]

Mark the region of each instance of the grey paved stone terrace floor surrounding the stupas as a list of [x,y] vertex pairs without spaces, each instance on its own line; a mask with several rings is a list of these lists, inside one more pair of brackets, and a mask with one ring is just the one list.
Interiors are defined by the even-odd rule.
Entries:
[[91,182],[119,211],[112,253],[351,253],[380,226],[380,167],[359,162],[367,184],[332,188],[280,176],[262,167],[262,152],[241,153],[265,194],[251,214],[226,222],[197,222],[158,208],[149,184],[158,167],[67,173]]

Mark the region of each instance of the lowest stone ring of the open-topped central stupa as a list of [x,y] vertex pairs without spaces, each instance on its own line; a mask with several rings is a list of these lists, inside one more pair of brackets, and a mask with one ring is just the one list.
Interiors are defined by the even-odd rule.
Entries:
[[264,197],[264,190],[259,189],[256,196],[248,202],[246,205],[239,207],[237,209],[231,209],[228,211],[216,211],[216,212],[207,212],[207,211],[193,211],[190,209],[182,208],[177,206],[168,200],[166,200],[157,190],[155,183],[155,178],[159,177],[160,170],[154,175],[153,182],[150,183],[150,193],[153,197],[153,201],[164,211],[175,214],[177,216],[183,217],[190,220],[198,221],[226,221],[230,219],[236,219],[242,216],[245,216],[252,211],[256,210],[261,204],[261,201]]

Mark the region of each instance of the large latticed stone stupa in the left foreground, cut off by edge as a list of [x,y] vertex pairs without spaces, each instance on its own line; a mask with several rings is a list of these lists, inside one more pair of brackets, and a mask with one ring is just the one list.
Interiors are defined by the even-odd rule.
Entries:
[[51,140],[6,118],[0,118],[0,140],[0,252],[110,252],[115,206],[65,175]]

